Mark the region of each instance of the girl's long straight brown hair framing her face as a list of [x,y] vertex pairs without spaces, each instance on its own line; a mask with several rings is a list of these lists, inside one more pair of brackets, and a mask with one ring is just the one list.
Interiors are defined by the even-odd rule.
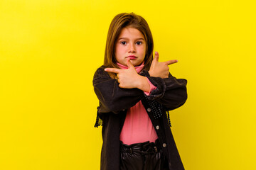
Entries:
[[[119,13],[113,18],[112,22],[110,23],[110,28],[107,33],[104,65],[106,67],[119,68],[117,66],[117,60],[114,56],[114,48],[122,28],[126,27],[136,28],[144,35],[146,41],[144,69],[149,70],[151,62],[153,60],[153,37],[149,29],[148,23],[146,23],[146,20],[142,18],[142,16],[138,16],[135,13]],[[116,74],[114,73],[109,72],[109,74],[112,79],[116,77]]]

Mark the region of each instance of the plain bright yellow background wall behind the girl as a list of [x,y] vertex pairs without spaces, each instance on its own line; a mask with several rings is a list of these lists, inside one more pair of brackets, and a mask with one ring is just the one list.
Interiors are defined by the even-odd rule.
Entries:
[[256,169],[254,1],[0,0],[0,169],[100,169],[92,76],[121,12],[188,79],[171,112],[187,170]]

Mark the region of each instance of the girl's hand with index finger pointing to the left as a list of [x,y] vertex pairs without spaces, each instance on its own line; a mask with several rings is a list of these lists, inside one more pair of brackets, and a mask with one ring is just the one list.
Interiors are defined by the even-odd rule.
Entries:
[[117,81],[119,82],[119,87],[124,89],[138,88],[142,91],[150,91],[150,86],[146,77],[142,77],[137,74],[135,67],[132,62],[127,58],[128,69],[116,69],[116,68],[106,68],[105,72],[117,73]]

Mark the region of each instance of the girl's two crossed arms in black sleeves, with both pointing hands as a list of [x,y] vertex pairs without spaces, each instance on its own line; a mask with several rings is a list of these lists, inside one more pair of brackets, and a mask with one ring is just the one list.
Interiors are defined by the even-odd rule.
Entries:
[[[156,100],[169,110],[178,108],[186,101],[186,80],[176,79],[169,73],[169,64],[176,60],[158,62],[156,53],[149,72],[137,74],[133,65],[127,61],[128,69],[114,69],[100,67],[95,73],[93,86],[95,94],[100,100],[100,113],[119,113],[123,109],[131,108],[149,91],[151,81],[156,89],[151,91],[149,100]],[[118,79],[111,79],[107,72],[117,73]],[[146,84],[146,85],[145,85]]]

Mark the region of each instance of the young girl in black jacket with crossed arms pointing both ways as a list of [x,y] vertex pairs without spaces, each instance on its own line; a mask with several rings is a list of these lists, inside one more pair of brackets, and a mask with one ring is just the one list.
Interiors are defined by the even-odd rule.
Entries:
[[187,98],[186,79],[169,73],[169,60],[153,60],[148,24],[134,13],[114,17],[104,65],[93,78],[99,98],[95,127],[102,125],[101,169],[181,170],[169,111]]

